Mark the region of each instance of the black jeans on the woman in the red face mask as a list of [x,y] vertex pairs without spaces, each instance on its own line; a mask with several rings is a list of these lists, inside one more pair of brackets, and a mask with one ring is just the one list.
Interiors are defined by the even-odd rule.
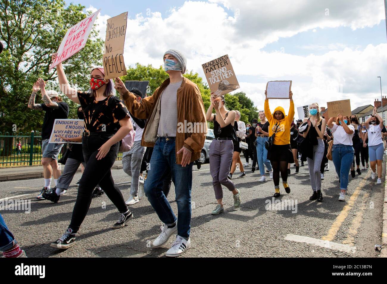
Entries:
[[118,187],[114,185],[110,168],[113,166],[118,155],[120,143],[110,147],[109,152],[101,160],[97,160],[98,148],[108,141],[113,134],[94,134],[82,138],[82,150],[86,167],[79,182],[77,201],[73,209],[71,223],[68,228],[74,233],[79,230],[80,225],[86,217],[91,204],[92,192],[97,184],[101,186],[111,202],[120,213],[128,211],[128,207]]

